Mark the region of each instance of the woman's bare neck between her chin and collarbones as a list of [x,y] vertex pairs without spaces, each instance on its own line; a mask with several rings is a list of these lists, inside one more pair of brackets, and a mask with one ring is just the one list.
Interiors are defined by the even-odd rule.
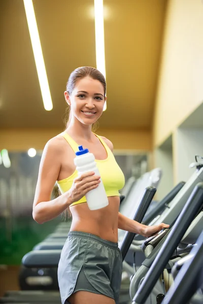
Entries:
[[79,122],[75,117],[73,117],[70,121],[69,126],[66,128],[66,132],[70,134],[70,136],[75,136],[78,138],[84,138],[86,140],[90,140],[92,138],[92,125],[84,125]]

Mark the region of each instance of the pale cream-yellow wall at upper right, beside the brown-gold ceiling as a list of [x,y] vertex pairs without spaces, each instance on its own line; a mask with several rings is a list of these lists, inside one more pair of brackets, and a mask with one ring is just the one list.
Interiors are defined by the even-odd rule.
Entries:
[[153,122],[153,145],[164,141],[203,100],[203,3],[168,3]]

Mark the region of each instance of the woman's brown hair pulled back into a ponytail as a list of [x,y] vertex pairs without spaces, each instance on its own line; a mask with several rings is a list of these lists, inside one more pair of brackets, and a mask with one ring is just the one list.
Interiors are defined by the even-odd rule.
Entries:
[[[71,95],[75,88],[77,80],[83,79],[85,77],[90,77],[92,79],[98,80],[104,87],[104,96],[106,95],[106,80],[104,75],[101,72],[99,72],[99,70],[91,66],[78,67],[71,73],[69,80],[67,81],[66,84],[66,92],[69,93],[69,95]],[[65,128],[67,128],[70,121],[71,121],[71,108],[70,106],[67,106],[65,110],[65,119],[64,119]],[[93,128],[95,131],[95,124],[93,124]]]

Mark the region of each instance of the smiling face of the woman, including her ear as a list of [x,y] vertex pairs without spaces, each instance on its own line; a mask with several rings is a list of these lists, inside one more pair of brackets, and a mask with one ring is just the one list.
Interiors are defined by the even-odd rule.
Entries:
[[99,119],[107,99],[103,85],[90,77],[78,80],[72,94],[69,96],[65,92],[64,95],[71,106],[72,117],[85,125],[92,125]]

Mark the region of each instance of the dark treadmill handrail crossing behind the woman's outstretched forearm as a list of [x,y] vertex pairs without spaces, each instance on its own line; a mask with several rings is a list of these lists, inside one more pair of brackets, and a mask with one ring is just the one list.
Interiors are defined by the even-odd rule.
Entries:
[[[155,193],[156,193],[155,187],[150,186],[150,187],[145,188],[145,191],[139,202],[136,213],[133,216],[133,220],[138,221],[138,222],[141,222],[143,220],[143,217],[145,216],[145,213],[146,213]],[[135,235],[136,235],[136,233],[132,233],[132,232],[125,233],[125,236],[120,245],[120,250],[121,250],[123,260],[125,259],[127,251],[129,249]]]

